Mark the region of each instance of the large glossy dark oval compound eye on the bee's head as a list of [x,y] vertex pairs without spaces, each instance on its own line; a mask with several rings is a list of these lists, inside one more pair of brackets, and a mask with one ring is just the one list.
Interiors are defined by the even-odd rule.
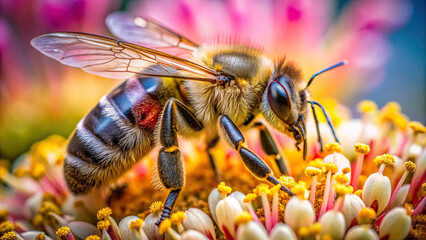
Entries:
[[286,122],[291,113],[291,100],[287,84],[272,81],[268,86],[268,103],[275,115]]

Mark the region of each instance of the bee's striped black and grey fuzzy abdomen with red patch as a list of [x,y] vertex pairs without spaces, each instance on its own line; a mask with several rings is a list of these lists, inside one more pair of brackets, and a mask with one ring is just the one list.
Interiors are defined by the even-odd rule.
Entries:
[[175,93],[164,88],[160,78],[129,79],[78,123],[64,164],[72,192],[114,180],[149,153],[162,106]]

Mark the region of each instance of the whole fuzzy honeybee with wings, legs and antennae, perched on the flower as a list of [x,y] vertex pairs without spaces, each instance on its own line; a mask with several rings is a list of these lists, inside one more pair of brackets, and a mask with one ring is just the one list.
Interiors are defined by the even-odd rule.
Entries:
[[[249,45],[198,45],[152,20],[122,13],[109,15],[106,22],[124,41],[73,32],[49,33],[31,41],[37,50],[65,65],[127,79],[100,99],[70,137],[64,173],[73,193],[84,194],[117,179],[160,145],[156,176],[159,186],[170,191],[161,220],[168,218],[185,185],[178,134],[205,136],[216,174],[210,149],[222,136],[255,177],[278,184],[270,167],[246,147],[239,128],[257,127],[262,149],[285,174],[283,157],[269,131],[253,119],[263,115],[272,127],[294,138],[298,149],[303,144],[306,158],[309,104],[322,147],[314,108],[322,106],[309,100],[307,88],[318,74],[345,62],[305,83],[295,64],[284,57],[274,63]],[[293,195],[284,186],[282,190]]]

